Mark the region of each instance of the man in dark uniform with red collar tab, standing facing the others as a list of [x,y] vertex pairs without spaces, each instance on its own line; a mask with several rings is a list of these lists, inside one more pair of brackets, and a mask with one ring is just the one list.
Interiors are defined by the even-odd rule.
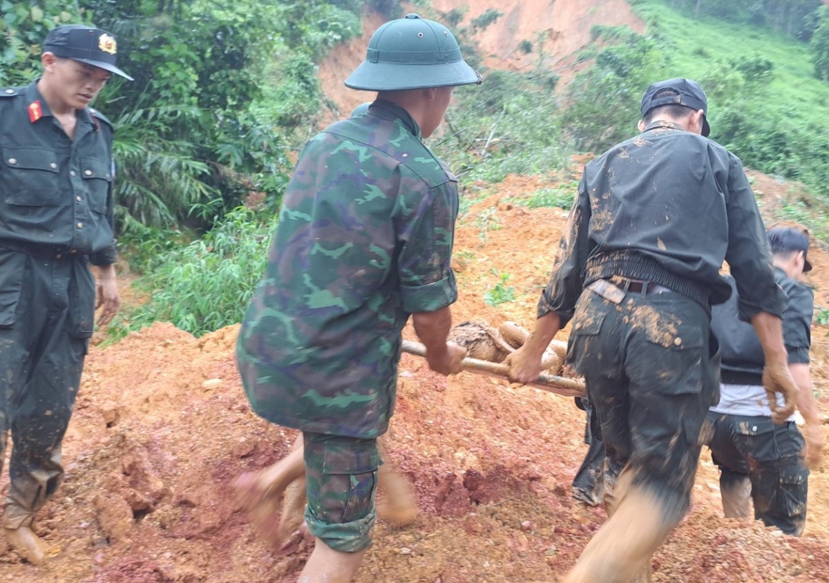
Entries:
[[[0,455],[12,432],[2,527],[34,564],[34,513],[61,482],[61,440],[93,331],[119,307],[112,125],[87,106],[117,66],[108,32],[69,25],[43,45],[43,75],[0,89]],[[0,457],[2,459],[2,457]]]

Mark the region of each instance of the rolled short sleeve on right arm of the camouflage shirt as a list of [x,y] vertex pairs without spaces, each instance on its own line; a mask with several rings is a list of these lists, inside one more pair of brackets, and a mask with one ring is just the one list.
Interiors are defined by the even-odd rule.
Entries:
[[410,211],[396,225],[402,307],[408,313],[434,312],[458,299],[451,266],[458,190],[448,181],[426,189],[419,200],[406,198]]

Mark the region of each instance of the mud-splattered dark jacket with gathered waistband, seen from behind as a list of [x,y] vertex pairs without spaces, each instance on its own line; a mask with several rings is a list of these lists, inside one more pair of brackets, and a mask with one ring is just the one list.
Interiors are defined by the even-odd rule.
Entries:
[[538,317],[573,317],[582,289],[621,275],[672,289],[710,309],[729,298],[739,315],[780,316],[763,221],[739,158],[678,124],[654,122],[588,163],[555,255]]

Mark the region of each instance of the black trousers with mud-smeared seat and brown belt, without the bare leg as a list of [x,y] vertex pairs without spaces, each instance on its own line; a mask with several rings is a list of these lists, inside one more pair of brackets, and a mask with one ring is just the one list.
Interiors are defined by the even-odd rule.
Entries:
[[673,292],[628,292],[616,303],[585,289],[568,361],[584,376],[608,474],[627,466],[633,487],[661,501],[666,524],[678,523],[690,505],[700,430],[720,385],[709,313]]

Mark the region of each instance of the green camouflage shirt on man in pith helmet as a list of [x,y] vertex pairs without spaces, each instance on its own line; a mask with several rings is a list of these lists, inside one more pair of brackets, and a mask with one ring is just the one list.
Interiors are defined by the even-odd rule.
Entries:
[[239,336],[254,410],[317,433],[384,433],[401,329],[457,299],[457,214],[457,180],[405,109],[377,101],[313,138]]

